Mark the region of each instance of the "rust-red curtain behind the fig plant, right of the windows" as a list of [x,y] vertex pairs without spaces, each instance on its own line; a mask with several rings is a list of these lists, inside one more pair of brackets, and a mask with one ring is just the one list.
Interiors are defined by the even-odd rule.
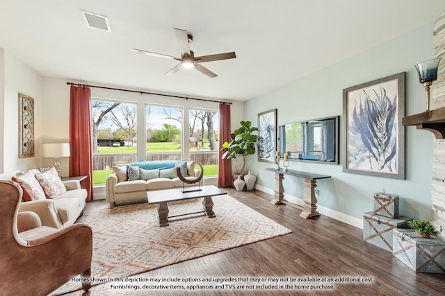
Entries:
[[221,159],[224,154],[223,143],[231,141],[230,138],[230,105],[220,104],[220,139],[219,139],[219,165],[218,187],[232,186],[232,159]]

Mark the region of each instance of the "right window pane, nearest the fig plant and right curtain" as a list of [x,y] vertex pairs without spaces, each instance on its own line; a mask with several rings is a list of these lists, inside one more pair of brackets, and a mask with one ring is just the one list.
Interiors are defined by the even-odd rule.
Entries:
[[218,175],[219,113],[190,109],[188,125],[190,158],[204,166],[204,176]]

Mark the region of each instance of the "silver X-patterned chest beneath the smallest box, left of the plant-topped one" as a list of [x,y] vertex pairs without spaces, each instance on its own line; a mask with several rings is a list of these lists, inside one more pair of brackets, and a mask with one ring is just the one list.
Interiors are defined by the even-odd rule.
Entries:
[[363,214],[363,240],[392,252],[393,229],[407,227],[406,223],[411,220],[408,217],[389,218],[374,215],[373,211]]

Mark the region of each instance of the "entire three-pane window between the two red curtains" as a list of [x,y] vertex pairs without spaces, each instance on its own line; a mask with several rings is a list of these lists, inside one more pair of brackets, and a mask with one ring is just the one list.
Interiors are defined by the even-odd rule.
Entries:
[[[94,184],[104,184],[114,163],[136,162],[143,157],[193,159],[204,167],[204,177],[218,175],[216,110],[94,100],[92,126]],[[141,134],[144,128],[145,134]]]

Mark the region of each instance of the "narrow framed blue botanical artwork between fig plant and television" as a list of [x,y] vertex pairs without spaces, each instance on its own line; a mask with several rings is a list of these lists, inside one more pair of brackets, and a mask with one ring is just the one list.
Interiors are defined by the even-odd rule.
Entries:
[[277,150],[277,110],[258,114],[258,160],[274,162]]

